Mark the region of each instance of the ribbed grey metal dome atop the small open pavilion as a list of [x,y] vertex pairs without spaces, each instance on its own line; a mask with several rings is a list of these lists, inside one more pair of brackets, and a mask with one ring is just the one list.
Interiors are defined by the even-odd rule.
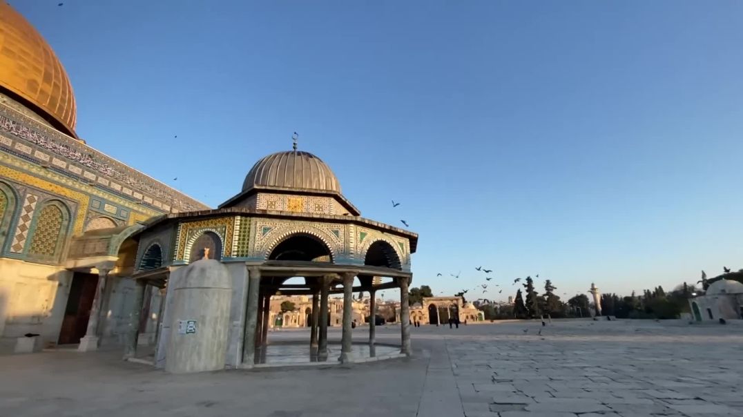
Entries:
[[310,152],[276,152],[253,165],[242,184],[251,188],[317,190],[340,194],[340,182],[322,159]]

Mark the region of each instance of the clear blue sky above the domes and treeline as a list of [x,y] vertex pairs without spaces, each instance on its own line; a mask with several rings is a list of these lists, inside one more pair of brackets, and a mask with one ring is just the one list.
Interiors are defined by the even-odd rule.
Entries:
[[740,1],[57,2],[80,136],[212,207],[296,131],[436,293],[743,268]]

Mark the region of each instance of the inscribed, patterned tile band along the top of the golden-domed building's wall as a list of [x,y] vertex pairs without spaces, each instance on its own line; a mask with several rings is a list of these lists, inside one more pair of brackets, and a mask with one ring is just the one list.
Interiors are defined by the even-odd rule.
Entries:
[[0,106],[0,146],[39,164],[71,172],[163,211],[204,210],[204,204],[149,178],[84,143]]

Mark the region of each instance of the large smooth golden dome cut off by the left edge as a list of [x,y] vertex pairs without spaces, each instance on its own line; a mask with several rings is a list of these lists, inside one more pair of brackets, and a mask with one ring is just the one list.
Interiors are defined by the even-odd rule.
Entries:
[[39,32],[0,1],[0,92],[10,92],[56,129],[75,135],[75,97],[65,68]]

